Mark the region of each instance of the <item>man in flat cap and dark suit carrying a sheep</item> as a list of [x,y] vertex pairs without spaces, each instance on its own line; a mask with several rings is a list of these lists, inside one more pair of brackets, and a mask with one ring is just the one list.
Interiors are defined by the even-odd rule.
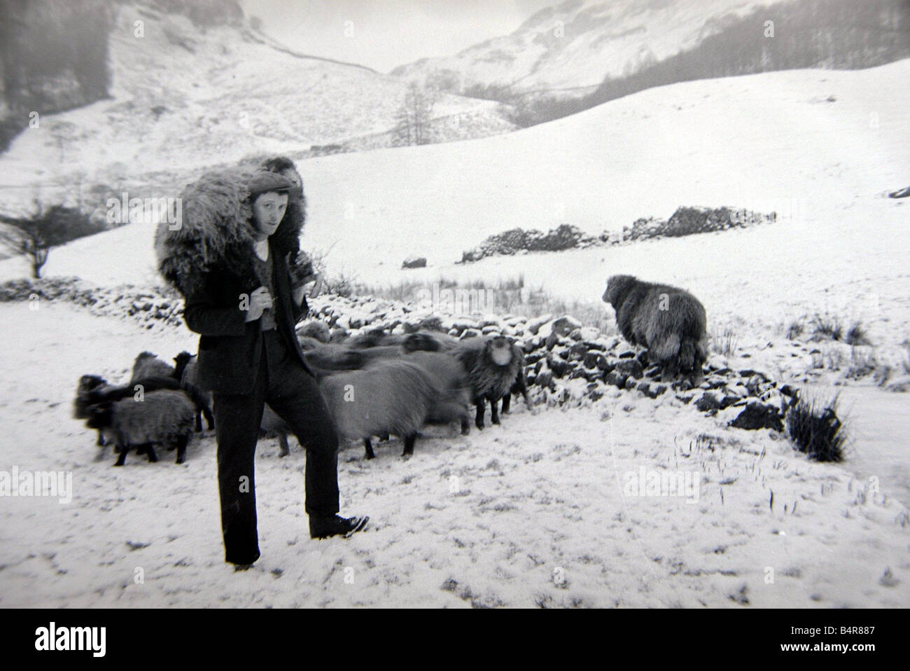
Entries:
[[[286,241],[297,240],[284,216],[292,184],[278,173],[258,172],[238,189],[247,194],[239,208],[217,206],[236,210],[246,221],[199,212],[209,207],[212,193],[227,190],[226,183],[232,184],[229,176],[216,174],[187,188],[184,201],[190,204],[190,216],[161,269],[168,279],[177,275],[175,283],[186,298],[187,326],[200,334],[198,381],[214,397],[225,559],[240,570],[259,556],[253,458],[266,402],[288,422],[307,452],[310,536],[348,537],[369,518],[337,514],[339,438],[294,332],[308,306],[305,284],[294,283],[288,269],[296,246]],[[205,269],[181,273],[185,264],[173,257],[198,246],[200,239],[205,239],[205,249],[188,253],[203,255]],[[291,262],[303,259],[297,252]]]

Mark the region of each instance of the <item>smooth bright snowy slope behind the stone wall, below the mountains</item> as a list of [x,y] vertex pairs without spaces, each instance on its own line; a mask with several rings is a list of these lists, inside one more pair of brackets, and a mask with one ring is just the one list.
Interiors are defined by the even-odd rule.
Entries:
[[[715,315],[764,310],[768,320],[780,311],[773,301],[738,306],[730,282],[758,296],[849,304],[854,293],[827,290],[864,277],[871,291],[875,278],[888,276],[893,288],[875,290],[905,300],[905,259],[895,253],[906,249],[905,205],[882,194],[910,175],[900,141],[908,74],[910,61],[902,61],[691,82],[506,136],[302,161],[303,244],[331,249],[330,270],[372,284],[429,285],[440,275],[495,283],[523,273],[531,287],[598,300],[606,275],[628,271],[691,286],[711,297]],[[668,217],[680,205],[776,210],[779,222],[454,265],[461,251],[505,229],[562,222],[620,229],[639,217]],[[76,240],[51,253],[45,272],[106,285],[154,283],[152,229],[129,225]],[[401,271],[411,254],[427,256],[430,267]],[[6,260],[0,273],[23,276],[25,265]]]

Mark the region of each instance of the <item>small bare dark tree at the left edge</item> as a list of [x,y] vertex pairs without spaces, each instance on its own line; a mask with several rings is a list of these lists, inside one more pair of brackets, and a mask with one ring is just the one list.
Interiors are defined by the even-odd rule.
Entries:
[[32,277],[38,280],[52,247],[97,233],[104,230],[104,226],[92,223],[88,215],[76,208],[55,205],[45,210],[38,199],[35,199],[35,206],[36,212],[31,217],[0,215],[0,222],[10,226],[0,231],[0,242],[25,256],[32,266]]

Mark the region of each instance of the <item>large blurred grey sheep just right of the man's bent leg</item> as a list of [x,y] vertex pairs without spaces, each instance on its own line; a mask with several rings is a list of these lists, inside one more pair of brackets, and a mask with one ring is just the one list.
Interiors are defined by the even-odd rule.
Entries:
[[370,438],[394,433],[404,439],[402,456],[414,453],[417,432],[439,390],[430,374],[413,361],[376,361],[362,371],[339,371],[319,382],[339,435],[362,439],[372,459]]

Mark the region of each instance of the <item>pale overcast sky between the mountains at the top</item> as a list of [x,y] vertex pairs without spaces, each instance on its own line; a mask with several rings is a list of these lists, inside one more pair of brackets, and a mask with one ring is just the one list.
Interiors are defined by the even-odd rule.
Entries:
[[[388,72],[507,35],[561,0],[241,0],[263,30],[296,51]],[[352,22],[347,24],[346,22]],[[350,36],[345,35],[346,27]]]

